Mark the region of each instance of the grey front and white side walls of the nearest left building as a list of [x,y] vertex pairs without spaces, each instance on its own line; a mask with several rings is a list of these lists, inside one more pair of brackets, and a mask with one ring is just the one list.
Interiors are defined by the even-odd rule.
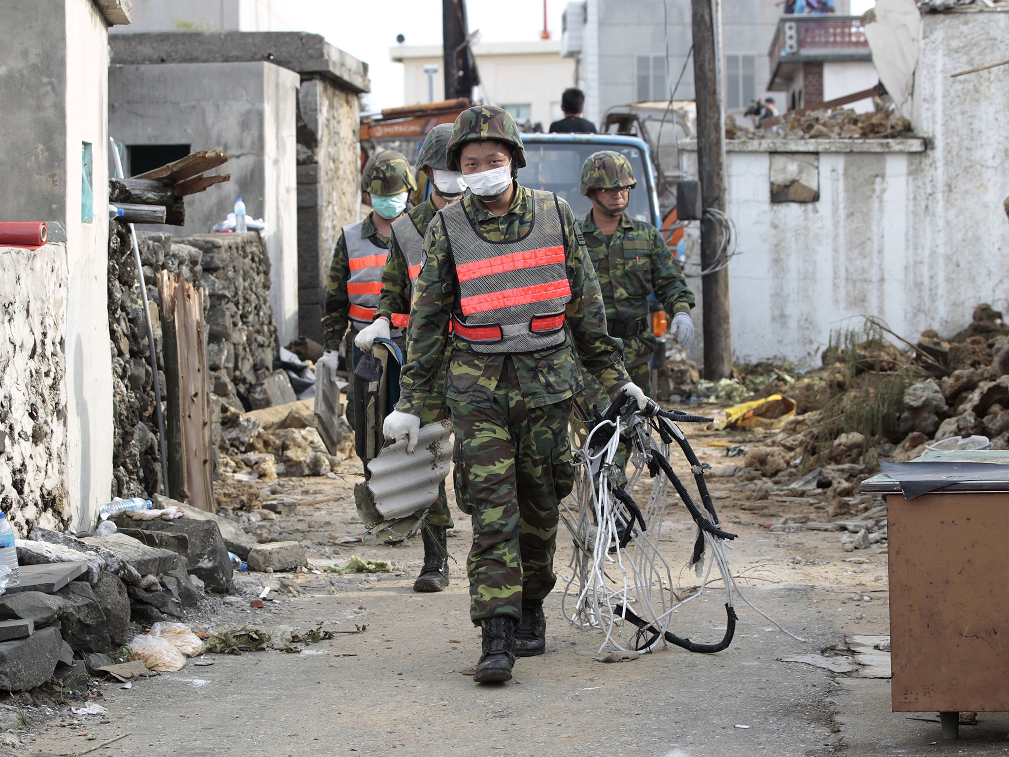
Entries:
[[[75,524],[110,496],[112,374],[106,314],[108,221],[105,19],[89,0],[0,1],[0,220],[66,229],[67,457]],[[82,218],[83,143],[94,216]],[[25,276],[32,276],[26,274]]]

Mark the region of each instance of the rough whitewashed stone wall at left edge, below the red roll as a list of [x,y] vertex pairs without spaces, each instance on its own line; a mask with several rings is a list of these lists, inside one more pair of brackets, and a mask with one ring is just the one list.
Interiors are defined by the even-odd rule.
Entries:
[[19,536],[66,528],[67,248],[0,247],[0,508]]

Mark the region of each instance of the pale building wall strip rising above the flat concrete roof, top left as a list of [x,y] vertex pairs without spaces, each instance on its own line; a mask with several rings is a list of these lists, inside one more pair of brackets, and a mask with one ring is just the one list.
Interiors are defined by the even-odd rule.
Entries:
[[133,22],[113,32],[288,31],[284,0],[133,0]]

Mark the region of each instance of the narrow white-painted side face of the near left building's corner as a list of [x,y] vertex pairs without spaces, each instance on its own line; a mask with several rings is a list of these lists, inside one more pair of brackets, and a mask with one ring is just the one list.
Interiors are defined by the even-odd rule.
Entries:
[[[74,525],[91,526],[112,491],[112,357],[108,314],[108,31],[87,0],[68,0],[67,492]],[[94,155],[94,219],[81,220],[82,142]]]

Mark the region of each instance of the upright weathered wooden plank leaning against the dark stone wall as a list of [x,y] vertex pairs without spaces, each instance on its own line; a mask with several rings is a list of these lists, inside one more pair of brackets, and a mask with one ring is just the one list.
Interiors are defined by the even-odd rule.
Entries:
[[157,291],[167,389],[170,490],[176,499],[214,513],[203,290],[184,281],[181,274],[161,271]]

